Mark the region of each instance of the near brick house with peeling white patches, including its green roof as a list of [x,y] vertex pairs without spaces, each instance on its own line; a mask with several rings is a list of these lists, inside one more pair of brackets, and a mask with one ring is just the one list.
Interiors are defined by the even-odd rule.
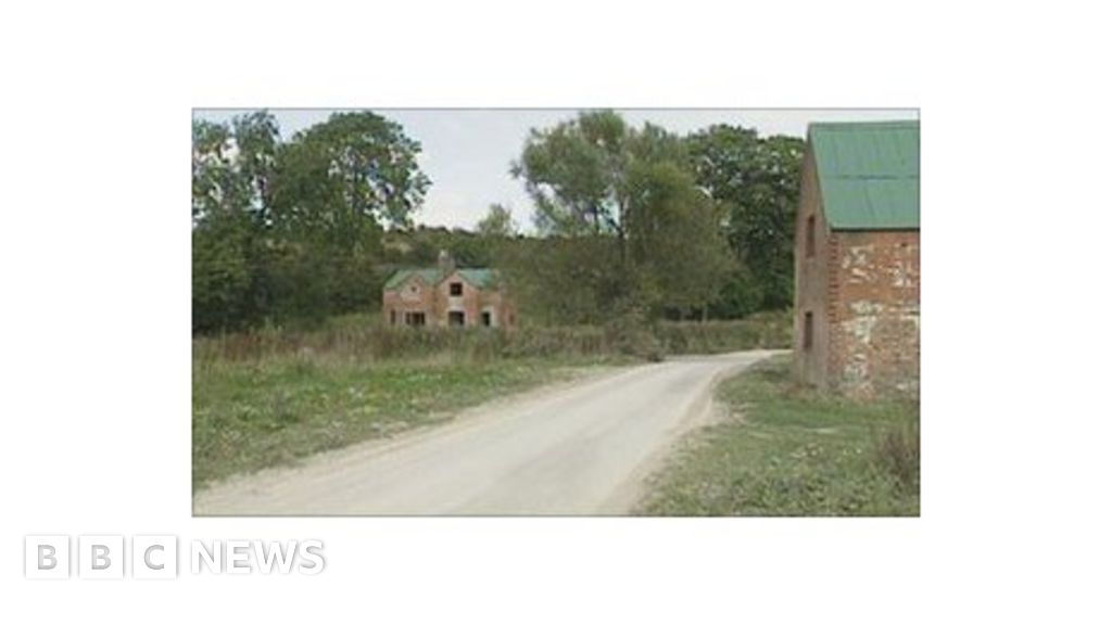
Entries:
[[813,123],[795,237],[795,374],[917,394],[919,122]]

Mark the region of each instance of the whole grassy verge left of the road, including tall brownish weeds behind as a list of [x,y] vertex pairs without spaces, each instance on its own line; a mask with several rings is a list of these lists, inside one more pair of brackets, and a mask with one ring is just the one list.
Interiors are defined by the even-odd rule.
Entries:
[[786,314],[506,330],[389,328],[377,316],[349,315],[315,330],[196,338],[193,487],[428,424],[577,368],[662,351],[776,347],[785,336]]

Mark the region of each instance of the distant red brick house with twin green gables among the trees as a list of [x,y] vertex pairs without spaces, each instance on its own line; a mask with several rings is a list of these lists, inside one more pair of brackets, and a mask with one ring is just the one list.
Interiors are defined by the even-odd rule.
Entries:
[[457,269],[441,251],[435,268],[399,269],[383,287],[383,319],[391,326],[512,327],[514,306],[493,269]]

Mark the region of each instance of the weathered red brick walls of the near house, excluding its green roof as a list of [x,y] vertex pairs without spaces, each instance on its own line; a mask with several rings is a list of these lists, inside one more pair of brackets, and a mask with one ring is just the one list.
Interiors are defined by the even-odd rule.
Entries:
[[919,393],[919,231],[830,230],[807,150],[795,225],[796,379],[855,397]]

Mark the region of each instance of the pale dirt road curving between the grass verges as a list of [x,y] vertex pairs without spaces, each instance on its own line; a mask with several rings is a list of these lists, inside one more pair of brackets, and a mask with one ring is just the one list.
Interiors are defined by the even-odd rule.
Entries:
[[390,442],[201,492],[197,515],[624,514],[722,377],[768,356],[685,357],[467,410]]

